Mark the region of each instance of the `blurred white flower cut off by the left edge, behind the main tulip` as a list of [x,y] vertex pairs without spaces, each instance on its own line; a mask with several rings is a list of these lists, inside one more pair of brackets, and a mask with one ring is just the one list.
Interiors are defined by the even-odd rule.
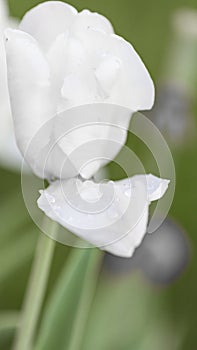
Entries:
[[21,156],[16,146],[7,87],[7,68],[3,31],[17,22],[8,15],[5,1],[0,0],[0,164],[20,169]]

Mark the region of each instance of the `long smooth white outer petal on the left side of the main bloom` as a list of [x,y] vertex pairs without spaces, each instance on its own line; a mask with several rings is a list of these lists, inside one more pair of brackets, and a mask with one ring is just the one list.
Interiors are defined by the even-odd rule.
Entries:
[[[15,134],[24,155],[31,139],[55,113],[50,73],[37,42],[29,34],[8,29],[5,37]],[[32,158],[26,159],[31,167],[41,148],[48,142],[48,136],[45,136],[45,139],[37,138],[37,144],[29,154]]]

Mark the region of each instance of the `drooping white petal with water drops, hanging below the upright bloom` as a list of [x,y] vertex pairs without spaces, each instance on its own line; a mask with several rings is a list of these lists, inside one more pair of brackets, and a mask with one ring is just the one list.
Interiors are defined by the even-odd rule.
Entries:
[[145,176],[103,184],[76,178],[56,181],[40,193],[38,206],[47,216],[112,254],[130,257],[146,232]]

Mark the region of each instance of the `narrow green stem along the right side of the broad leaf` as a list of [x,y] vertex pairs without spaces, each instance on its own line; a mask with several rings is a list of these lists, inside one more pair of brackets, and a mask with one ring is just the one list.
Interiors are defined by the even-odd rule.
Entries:
[[91,250],[68,350],[81,349],[89,311],[95,294],[97,276],[102,257],[103,254],[100,250]]

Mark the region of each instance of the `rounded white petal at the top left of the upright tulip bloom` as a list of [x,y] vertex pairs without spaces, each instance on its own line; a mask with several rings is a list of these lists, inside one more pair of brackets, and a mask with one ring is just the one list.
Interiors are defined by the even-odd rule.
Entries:
[[56,37],[68,30],[77,10],[61,1],[46,1],[28,11],[20,29],[32,35],[46,51]]

